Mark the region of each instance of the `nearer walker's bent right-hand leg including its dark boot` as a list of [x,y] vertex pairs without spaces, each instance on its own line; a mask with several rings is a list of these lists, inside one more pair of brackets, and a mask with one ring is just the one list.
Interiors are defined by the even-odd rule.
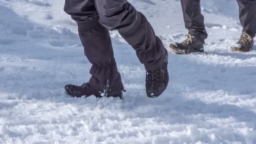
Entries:
[[95,5],[99,22],[109,30],[118,30],[144,64],[148,96],[159,96],[168,85],[168,53],[146,17],[127,0],[95,0]]

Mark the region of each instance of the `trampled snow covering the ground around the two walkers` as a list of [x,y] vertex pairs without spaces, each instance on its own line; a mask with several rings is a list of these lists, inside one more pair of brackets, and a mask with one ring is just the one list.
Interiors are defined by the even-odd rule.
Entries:
[[[179,0],[129,0],[166,48],[184,40]],[[256,51],[234,53],[235,0],[203,0],[205,54],[169,53],[167,91],[148,99],[133,49],[111,32],[123,101],[72,99],[89,64],[63,0],[0,0],[0,143],[256,144]]]

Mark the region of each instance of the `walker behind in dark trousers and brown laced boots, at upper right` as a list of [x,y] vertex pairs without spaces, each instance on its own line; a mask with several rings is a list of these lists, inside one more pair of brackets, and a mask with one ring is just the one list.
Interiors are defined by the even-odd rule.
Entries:
[[[256,34],[256,0],[237,0],[239,17],[243,32],[233,51],[248,52],[253,49],[253,37]],[[207,38],[204,17],[201,13],[200,0],[181,0],[187,39],[182,43],[171,44],[170,47],[178,54],[204,52],[204,40]]]

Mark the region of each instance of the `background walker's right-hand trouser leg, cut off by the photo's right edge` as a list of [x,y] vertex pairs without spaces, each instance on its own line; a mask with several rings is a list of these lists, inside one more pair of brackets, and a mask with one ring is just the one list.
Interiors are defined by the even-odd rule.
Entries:
[[256,0],[237,0],[239,5],[239,18],[243,32],[251,37],[256,34]]

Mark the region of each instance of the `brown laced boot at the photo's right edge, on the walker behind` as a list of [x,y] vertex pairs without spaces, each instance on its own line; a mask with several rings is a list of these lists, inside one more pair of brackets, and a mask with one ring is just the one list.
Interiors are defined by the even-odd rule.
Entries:
[[248,52],[253,49],[253,38],[246,32],[243,32],[236,46],[231,47],[233,51]]

